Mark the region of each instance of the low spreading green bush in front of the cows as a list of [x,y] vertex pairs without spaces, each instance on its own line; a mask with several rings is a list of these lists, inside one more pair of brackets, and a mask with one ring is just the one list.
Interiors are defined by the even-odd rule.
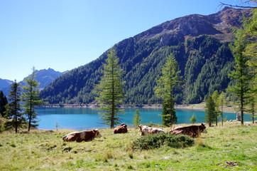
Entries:
[[168,145],[170,147],[180,148],[188,147],[194,144],[193,138],[187,137],[186,135],[172,135],[169,133],[157,133],[142,136],[135,140],[132,144],[134,150],[148,150],[158,148],[162,145]]

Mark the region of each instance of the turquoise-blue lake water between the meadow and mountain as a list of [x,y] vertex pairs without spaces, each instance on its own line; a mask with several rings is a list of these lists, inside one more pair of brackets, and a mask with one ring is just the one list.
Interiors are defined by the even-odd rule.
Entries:
[[[162,123],[161,108],[124,108],[125,115],[121,115],[121,123],[126,123],[128,126],[133,126],[132,120],[136,109],[141,114],[141,124]],[[37,108],[39,129],[56,129],[58,128],[74,129],[74,130],[89,130],[93,128],[109,128],[109,125],[103,125],[102,120],[96,108]],[[194,109],[176,109],[177,123],[190,123],[192,114],[195,113],[197,123],[204,123],[204,110]],[[235,113],[224,113],[224,118],[235,120]],[[251,121],[251,115],[244,115],[244,121]]]

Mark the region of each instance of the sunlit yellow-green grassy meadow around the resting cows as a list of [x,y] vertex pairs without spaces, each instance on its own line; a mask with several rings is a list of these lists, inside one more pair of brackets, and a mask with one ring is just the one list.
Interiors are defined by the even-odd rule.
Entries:
[[192,147],[152,150],[133,150],[138,129],[99,131],[92,142],[63,142],[72,130],[0,133],[0,170],[257,170],[257,124],[207,127]]

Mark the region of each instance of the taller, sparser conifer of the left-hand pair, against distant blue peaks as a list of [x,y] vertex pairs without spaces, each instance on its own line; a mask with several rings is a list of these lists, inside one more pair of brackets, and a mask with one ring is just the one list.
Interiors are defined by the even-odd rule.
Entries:
[[31,128],[38,126],[37,113],[35,113],[35,105],[43,104],[43,100],[39,97],[38,81],[35,80],[35,68],[32,68],[32,73],[25,80],[26,85],[23,86],[22,100],[24,102],[24,110],[28,120],[28,132]]

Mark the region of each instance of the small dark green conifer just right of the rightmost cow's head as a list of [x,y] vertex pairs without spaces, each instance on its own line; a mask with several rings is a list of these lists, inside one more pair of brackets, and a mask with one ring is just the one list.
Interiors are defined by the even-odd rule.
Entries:
[[209,123],[209,127],[212,125],[212,123],[215,122],[216,120],[216,115],[215,115],[215,103],[214,100],[212,99],[212,96],[209,96],[206,101],[206,109],[205,109],[205,122]]

